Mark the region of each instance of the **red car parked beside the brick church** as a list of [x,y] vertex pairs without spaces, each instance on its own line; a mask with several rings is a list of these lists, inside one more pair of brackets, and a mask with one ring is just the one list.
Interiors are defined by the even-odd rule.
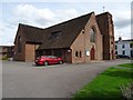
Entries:
[[41,56],[35,59],[37,66],[48,66],[53,63],[63,63],[63,59],[55,56]]

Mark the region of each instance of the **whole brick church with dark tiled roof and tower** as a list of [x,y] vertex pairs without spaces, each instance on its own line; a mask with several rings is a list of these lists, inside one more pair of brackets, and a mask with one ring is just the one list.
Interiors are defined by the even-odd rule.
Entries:
[[62,57],[65,62],[113,60],[112,14],[94,12],[41,29],[19,24],[14,39],[14,60],[33,61],[42,54]]

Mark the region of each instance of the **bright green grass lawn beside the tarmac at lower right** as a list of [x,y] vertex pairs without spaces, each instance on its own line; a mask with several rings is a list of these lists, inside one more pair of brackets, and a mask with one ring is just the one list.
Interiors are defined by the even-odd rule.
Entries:
[[[121,69],[120,67],[126,68]],[[117,66],[109,68],[73,94],[72,99],[99,98],[100,100],[100,98],[104,98],[108,100],[109,98],[117,98],[116,100],[122,100],[120,86],[133,81],[133,71],[129,67],[126,63],[120,64],[119,68]]]

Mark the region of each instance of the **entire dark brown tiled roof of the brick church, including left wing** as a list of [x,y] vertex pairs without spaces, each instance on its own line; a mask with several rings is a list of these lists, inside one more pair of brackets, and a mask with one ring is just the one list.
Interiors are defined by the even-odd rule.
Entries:
[[17,36],[21,30],[22,36],[25,38],[25,42],[42,43],[38,49],[69,48],[85,27],[92,13],[94,12],[45,29],[19,23]]

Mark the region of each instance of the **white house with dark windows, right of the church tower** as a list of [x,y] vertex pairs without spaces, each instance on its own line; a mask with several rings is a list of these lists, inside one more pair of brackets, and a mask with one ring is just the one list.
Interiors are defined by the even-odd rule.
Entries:
[[133,58],[133,39],[122,40],[120,37],[115,41],[115,54]]

